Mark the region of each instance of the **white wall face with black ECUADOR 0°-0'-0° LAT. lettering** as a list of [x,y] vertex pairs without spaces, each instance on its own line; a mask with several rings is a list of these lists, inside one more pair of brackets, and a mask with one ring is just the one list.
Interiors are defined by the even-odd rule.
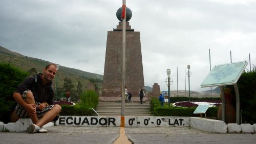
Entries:
[[[121,116],[60,116],[59,126],[120,127]],[[124,127],[188,127],[189,117],[124,116]]]

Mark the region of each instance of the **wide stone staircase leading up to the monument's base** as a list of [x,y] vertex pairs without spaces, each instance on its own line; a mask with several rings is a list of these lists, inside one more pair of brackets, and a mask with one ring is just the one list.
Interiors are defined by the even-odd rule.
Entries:
[[[125,115],[151,115],[150,102],[125,103]],[[121,102],[99,102],[97,113],[101,115],[121,115]]]

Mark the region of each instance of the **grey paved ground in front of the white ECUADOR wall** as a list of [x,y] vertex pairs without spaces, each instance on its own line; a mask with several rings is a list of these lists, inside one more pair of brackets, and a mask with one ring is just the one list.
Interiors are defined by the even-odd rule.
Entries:
[[[0,132],[0,143],[114,143],[119,127],[49,127],[48,133]],[[188,127],[125,128],[130,143],[256,143],[255,134],[216,134]],[[117,143],[117,142],[116,142]]]

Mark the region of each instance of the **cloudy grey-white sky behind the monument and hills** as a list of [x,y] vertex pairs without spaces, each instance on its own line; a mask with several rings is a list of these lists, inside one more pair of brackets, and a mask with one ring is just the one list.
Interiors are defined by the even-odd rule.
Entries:
[[[0,0],[0,45],[25,56],[103,75],[106,36],[118,25],[119,0]],[[190,90],[211,67],[247,60],[256,64],[256,2],[253,0],[126,0],[132,29],[140,32],[145,85]],[[249,64],[247,66],[249,69]],[[188,78],[186,76],[186,90]]]

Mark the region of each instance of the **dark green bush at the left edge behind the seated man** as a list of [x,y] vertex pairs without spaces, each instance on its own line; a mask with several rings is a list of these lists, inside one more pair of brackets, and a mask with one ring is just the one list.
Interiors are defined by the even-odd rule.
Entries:
[[0,69],[0,121],[8,123],[16,105],[12,93],[29,74],[8,63],[0,63]]

